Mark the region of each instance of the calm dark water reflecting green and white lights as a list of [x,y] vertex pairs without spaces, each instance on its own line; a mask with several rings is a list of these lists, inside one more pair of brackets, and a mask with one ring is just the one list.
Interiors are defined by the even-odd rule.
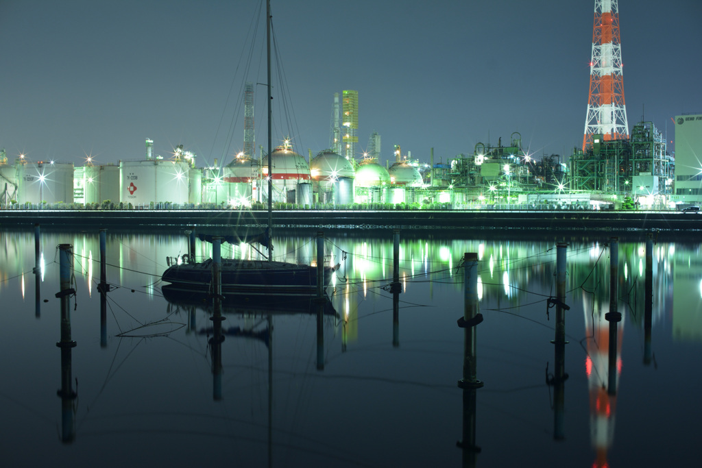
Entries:
[[[644,234],[618,243],[623,320],[610,395],[609,239],[569,241],[569,377],[556,427],[547,384],[555,366],[555,308],[547,305],[555,241],[401,233],[393,323],[392,233],[326,237],[325,261],[341,266],[328,290],[336,314],[324,315],[321,336],[306,303],[249,301],[225,307],[225,340],[213,347],[208,303],[168,302],[161,293],[166,257],[186,253],[182,233],[107,232],[114,289],[101,318],[98,232],[42,232],[36,275],[33,230],[0,232],[4,466],[696,466],[699,243],[656,239],[650,352]],[[72,244],[76,291],[69,312],[77,345],[63,359],[60,243]],[[197,241],[199,256],[208,248]],[[310,236],[277,239],[279,258],[310,262],[314,251]],[[484,315],[475,411],[457,386],[467,252],[479,255]],[[254,254],[223,247],[227,256]],[[479,453],[456,444],[473,421]]]

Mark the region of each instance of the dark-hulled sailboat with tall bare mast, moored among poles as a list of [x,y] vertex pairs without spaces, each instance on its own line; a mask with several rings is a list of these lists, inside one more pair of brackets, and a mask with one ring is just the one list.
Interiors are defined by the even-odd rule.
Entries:
[[[268,222],[263,234],[253,237],[268,249],[265,260],[222,259],[221,260],[221,290],[222,293],[246,295],[310,295],[317,290],[317,267],[299,265],[291,262],[276,262],[272,260],[272,210],[273,210],[273,168],[272,168],[272,85],[270,65],[270,0],[266,0],[266,36],[267,36],[267,94],[268,94]],[[227,236],[224,240],[232,242]],[[207,237],[201,237],[202,240]],[[217,241],[221,241],[218,239]],[[171,283],[174,288],[183,290],[199,290],[209,292],[213,283],[213,260],[204,262],[176,262],[169,266],[161,279]],[[339,265],[324,267],[324,286],[329,284],[331,275]]]

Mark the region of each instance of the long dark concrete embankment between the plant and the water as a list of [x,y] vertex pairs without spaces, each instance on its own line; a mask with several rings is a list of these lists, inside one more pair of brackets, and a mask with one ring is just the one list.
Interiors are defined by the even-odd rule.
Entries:
[[[0,210],[1,227],[39,223],[53,227],[226,226],[267,223],[267,212],[251,210]],[[279,210],[274,227],[296,229],[482,230],[546,229],[548,231],[663,230],[696,232],[702,215],[677,211],[579,210]]]

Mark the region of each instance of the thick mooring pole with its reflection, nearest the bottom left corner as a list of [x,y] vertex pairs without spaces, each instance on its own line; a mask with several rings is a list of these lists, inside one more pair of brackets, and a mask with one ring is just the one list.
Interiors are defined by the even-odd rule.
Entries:
[[62,243],[58,248],[61,290],[56,293],[56,297],[61,301],[61,340],[56,346],[61,349],[61,388],[56,393],[61,399],[61,440],[70,443],[75,439],[73,400],[77,396],[72,387],[71,349],[76,346],[76,342],[71,339],[70,297],[76,291],[71,288],[73,247],[69,243]]

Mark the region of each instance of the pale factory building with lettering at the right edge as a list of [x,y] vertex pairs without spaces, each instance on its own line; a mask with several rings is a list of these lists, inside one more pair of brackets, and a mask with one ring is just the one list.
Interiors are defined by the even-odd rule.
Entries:
[[675,117],[675,192],[677,203],[702,203],[702,114]]

